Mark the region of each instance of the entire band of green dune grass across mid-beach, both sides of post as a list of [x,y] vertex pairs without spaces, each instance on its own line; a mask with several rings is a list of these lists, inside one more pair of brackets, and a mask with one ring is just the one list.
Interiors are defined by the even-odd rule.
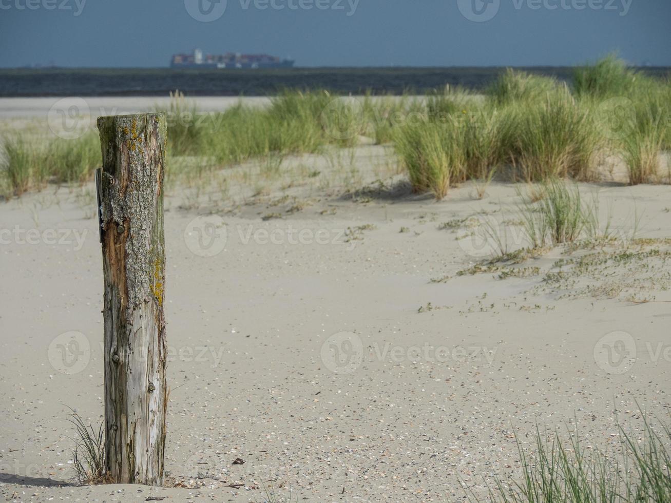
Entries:
[[[491,180],[495,170],[526,182],[596,180],[607,155],[625,163],[631,184],[657,182],[671,150],[670,103],[668,79],[614,56],[576,68],[572,87],[507,70],[484,97],[449,87],[423,98],[285,90],[266,107],[209,112],[176,92],[164,109],[166,176],[202,179],[247,160],[350,148],[367,137],[393,144],[413,188],[437,199],[465,180]],[[0,190],[11,197],[48,182],[83,182],[99,158],[95,131],[51,141],[15,133],[3,140]]]

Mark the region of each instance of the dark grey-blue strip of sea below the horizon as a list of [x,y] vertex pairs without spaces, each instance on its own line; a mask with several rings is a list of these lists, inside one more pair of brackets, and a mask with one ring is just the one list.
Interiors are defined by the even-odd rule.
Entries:
[[[570,80],[572,68],[535,66],[537,74]],[[486,87],[503,67],[291,68],[277,70],[172,70],[169,68],[0,69],[0,97],[165,96],[176,89],[190,96],[264,96],[283,88],[329,89],[338,93],[424,93],[446,84]],[[669,67],[639,70],[668,75]]]

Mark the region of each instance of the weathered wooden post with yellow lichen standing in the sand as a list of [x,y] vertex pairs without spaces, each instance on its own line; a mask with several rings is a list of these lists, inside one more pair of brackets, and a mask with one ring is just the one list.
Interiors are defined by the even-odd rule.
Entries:
[[163,483],[166,437],[162,113],[98,118],[105,296],[105,463],[119,484]]

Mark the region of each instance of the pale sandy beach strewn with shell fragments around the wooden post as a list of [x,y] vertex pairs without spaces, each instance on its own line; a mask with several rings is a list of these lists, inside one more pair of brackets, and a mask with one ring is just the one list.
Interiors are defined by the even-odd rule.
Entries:
[[[2,129],[45,127],[56,101],[0,99]],[[92,115],[155,103],[87,99]],[[436,202],[370,144],[264,169],[166,188],[166,488],[72,483],[70,408],[103,417],[93,183],[0,203],[5,500],[254,502],[272,486],[294,501],[465,501],[464,487],[486,497],[519,474],[516,435],[530,449],[537,427],[578,431],[613,451],[616,419],[636,435],[639,408],[668,417],[668,184],[627,186],[617,169],[580,183],[613,241],[483,270],[483,219],[522,244],[504,230],[516,184],[477,199],[466,182]]]

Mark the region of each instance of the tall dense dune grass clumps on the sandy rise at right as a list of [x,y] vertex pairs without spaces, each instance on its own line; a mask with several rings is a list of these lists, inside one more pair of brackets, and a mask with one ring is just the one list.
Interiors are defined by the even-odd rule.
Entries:
[[[638,184],[656,180],[660,157],[671,150],[669,103],[668,80],[637,74],[613,56],[576,68],[572,87],[507,70],[484,103],[427,96],[425,121],[400,128],[393,142],[413,188],[437,199],[446,183],[486,180],[493,170],[526,182],[597,180],[608,154],[619,155]],[[478,119],[463,121],[460,113]]]

